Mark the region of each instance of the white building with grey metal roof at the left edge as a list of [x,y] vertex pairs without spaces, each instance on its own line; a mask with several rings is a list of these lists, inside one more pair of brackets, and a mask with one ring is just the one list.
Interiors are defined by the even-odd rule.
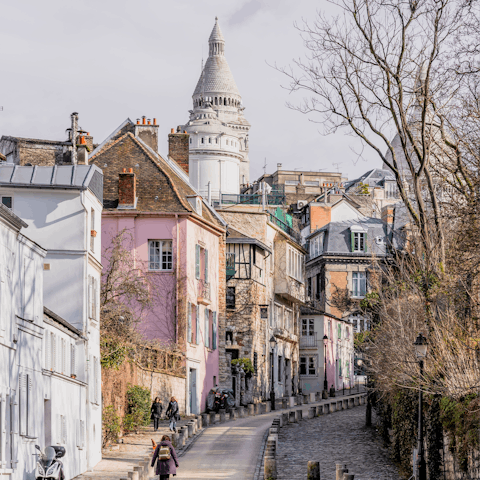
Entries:
[[[28,307],[35,311],[34,320],[27,322],[31,319],[18,313],[26,306],[7,312],[6,323],[11,325],[12,335],[17,328],[20,330],[21,321],[35,337],[27,347],[19,335],[18,353],[12,360],[18,373],[12,373],[8,384],[0,383],[20,395],[22,388],[28,387],[27,391],[32,392],[26,395],[27,406],[20,403],[19,415],[14,411],[12,417],[20,421],[16,442],[22,445],[14,459],[18,462],[16,471],[22,476],[12,478],[23,479],[23,472],[33,471],[36,443],[41,447],[65,446],[67,478],[101,460],[102,193],[103,175],[95,166],[0,166],[1,202],[11,206],[13,213],[25,222],[32,244],[41,245],[45,257],[43,262],[38,261],[39,266],[27,267],[30,260],[20,266],[27,285],[32,277],[30,269],[43,268],[43,278],[40,273],[33,280],[37,292],[34,306]],[[6,282],[10,281],[7,278]],[[19,302],[28,300],[27,293],[25,290]],[[3,296],[0,302],[4,303]],[[25,349],[20,349],[23,346]],[[23,374],[23,368],[33,368],[36,373],[32,373],[32,379]],[[35,411],[31,420],[27,417],[26,430],[22,430],[22,408]],[[24,436],[22,431],[26,432]]]

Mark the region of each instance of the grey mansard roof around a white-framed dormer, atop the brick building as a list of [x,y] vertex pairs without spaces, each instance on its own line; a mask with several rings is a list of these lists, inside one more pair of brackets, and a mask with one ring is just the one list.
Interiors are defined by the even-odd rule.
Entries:
[[[351,247],[352,228],[359,227],[367,233],[367,252],[355,253]],[[378,218],[345,220],[331,222],[311,233],[307,239],[312,240],[320,232],[325,232],[323,251],[320,255],[340,254],[355,257],[387,254],[389,242],[387,224]]]

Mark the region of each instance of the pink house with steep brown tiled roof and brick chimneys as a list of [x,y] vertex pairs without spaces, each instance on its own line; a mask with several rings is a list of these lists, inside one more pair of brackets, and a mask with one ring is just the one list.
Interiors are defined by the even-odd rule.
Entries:
[[[188,169],[188,135],[171,137],[172,154],[183,152]],[[218,379],[225,223],[189,184],[188,173],[157,149],[158,126],[127,119],[92,152],[89,163],[104,174],[102,244],[127,232],[136,262],[155,286],[154,306],[138,329],[185,354],[181,412],[200,413]]]

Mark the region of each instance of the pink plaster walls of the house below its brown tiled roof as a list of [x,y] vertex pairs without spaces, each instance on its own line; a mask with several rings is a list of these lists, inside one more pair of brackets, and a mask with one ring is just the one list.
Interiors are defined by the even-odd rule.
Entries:
[[[104,215],[102,217],[102,250],[111,243],[112,238],[122,229],[132,235],[132,249],[137,262],[148,266],[148,240],[172,240],[173,271],[149,272],[155,288],[155,308],[146,314],[138,325],[139,331],[149,339],[158,339],[166,343],[176,339],[176,312],[178,303],[186,312],[187,302],[194,305],[198,299],[198,280],[195,278],[195,246],[197,243],[208,250],[208,281],[210,283],[211,302],[200,306],[200,344],[187,342],[187,382],[190,368],[197,370],[197,406],[205,409],[206,397],[214,386],[214,376],[218,382],[218,282],[219,282],[219,240],[220,237],[191,220],[175,217],[132,217]],[[128,238],[128,237],[127,237]],[[178,240],[177,240],[178,239]],[[177,245],[178,242],[178,245]],[[178,247],[178,257],[177,257]],[[178,258],[178,262],[177,262]],[[138,263],[137,263],[138,265]],[[178,292],[176,284],[178,279]],[[178,295],[178,302],[176,297]],[[206,348],[204,343],[204,309],[217,312],[217,349]],[[187,387],[188,388],[188,387]],[[188,394],[187,394],[188,403]]]

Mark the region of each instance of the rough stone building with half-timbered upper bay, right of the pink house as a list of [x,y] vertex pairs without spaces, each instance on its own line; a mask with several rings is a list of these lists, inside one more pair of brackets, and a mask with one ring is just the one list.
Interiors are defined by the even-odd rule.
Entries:
[[[299,235],[260,206],[220,208],[229,235],[226,245],[226,324],[220,338],[222,385],[244,404],[298,391],[298,317],[305,300],[304,255]],[[275,339],[271,350],[270,339]],[[248,358],[254,367],[240,391],[231,360]]]

